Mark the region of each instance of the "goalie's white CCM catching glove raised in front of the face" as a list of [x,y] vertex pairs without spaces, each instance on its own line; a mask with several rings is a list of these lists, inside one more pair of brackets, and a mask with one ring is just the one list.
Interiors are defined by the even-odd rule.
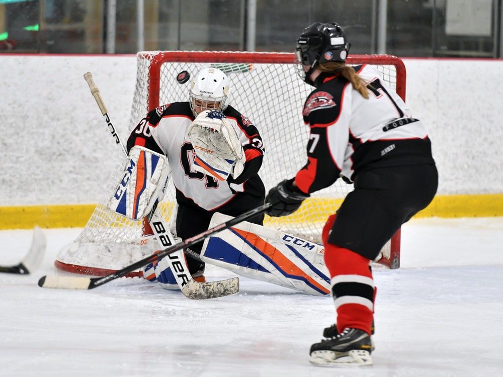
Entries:
[[201,112],[188,130],[189,139],[196,153],[193,168],[218,180],[233,178],[244,169],[243,147],[236,130],[225,117],[216,110]]

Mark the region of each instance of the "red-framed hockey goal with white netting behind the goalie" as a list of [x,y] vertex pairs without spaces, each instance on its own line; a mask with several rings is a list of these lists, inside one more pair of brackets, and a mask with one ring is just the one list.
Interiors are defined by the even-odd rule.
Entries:
[[[352,55],[350,65],[371,64],[388,85],[405,99],[405,66],[389,55]],[[266,192],[284,178],[291,178],[307,160],[309,129],[304,125],[302,106],[312,87],[297,75],[293,53],[146,51],[137,54],[136,88],[128,129],[159,105],[189,100],[191,80],[180,84],[178,73],[188,71],[191,79],[203,67],[216,67],[230,80],[230,104],[259,129],[266,153],[259,171]],[[125,128],[125,127],[124,127]],[[129,130],[120,130],[123,137]],[[125,141],[125,139],[124,139]],[[121,152],[117,150],[119,155]],[[142,222],[134,222],[106,208],[111,193],[122,177],[121,160],[111,173],[104,199],[80,235],[58,254],[56,267],[79,273],[102,275],[120,269],[153,251],[144,239]],[[294,214],[281,218],[266,216],[264,225],[306,240],[321,243],[321,229],[336,212],[353,185],[342,179],[311,195]],[[170,181],[159,205],[162,216],[173,224],[176,215],[175,188]],[[364,237],[365,235],[362,235]],[[400,231],[383,247],[379,263],[399,267]],[[134,274],[133,274],[134,275]]]

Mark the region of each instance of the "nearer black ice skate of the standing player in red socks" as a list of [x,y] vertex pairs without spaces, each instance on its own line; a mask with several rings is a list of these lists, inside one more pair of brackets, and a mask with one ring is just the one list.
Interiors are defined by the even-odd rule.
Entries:
[[370,335],[360,329],[347,328],[336,337],[311,346],[309,361],[320,366],[372,365]]

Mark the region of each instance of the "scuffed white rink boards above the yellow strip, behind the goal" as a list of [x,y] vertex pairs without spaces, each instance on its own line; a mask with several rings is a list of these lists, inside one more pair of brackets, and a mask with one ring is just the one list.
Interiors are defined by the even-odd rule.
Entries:
[[[1,59],[0,206],[97,203],[119,152],[82,75],[93,73],[125,138],[136,57],[7,54]],[[438,194],[503,192],[503,87],[495,79],[503,76],[503,61],[404,62],[407,102],[433,140]],[[298,127],[305,132],[303,124]]]

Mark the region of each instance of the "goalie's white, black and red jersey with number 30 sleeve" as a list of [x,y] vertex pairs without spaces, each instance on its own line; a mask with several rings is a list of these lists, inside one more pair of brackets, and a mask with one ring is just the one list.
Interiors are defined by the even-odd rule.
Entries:
[[262,166],[264,145],[259,131],[233,107],[228,106],[223,113],[234,126],[246,156],[244,169],[237,177],[229,176],[226,181],[218,181],[192,169],[195,152],[187,131],[194,115],[188,102],[162,105],[150,111],[132,130],[127,149],[142,145],[167,156],[179,204],[213,211],[227,204],[239,192],[263,195],[264,184],[258,171]]

